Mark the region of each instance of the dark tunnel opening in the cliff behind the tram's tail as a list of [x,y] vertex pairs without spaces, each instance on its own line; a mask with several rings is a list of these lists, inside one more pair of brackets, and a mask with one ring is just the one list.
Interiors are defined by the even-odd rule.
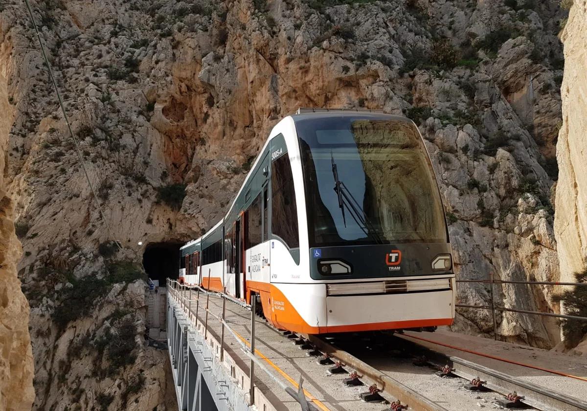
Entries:
[[165,287],[166,279],[177,279],[180,269],[180,242],[154,242],[145,248],[143,267],[159,287]]

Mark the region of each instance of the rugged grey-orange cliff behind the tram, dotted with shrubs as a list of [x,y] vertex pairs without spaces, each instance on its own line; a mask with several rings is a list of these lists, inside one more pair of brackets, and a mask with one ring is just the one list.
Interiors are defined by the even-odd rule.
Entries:
[[[34,5],[113,228],[109,237],[28,15],[3,4],[2,63],[15,113],[7,173],[32,308],[37,409],[164,404],[164,357],[142,345],[143,283],[127,260],[139,261],[150,243],[210,228],[268,131],[299,106],[414,119],[439,178],[460,278],[559,278],[550,190],[561,119],[556,35],[565,11],[553,2]],[[126,256],[113,251],[113,240]],[[495,288],[497,304],[558,311],[551,294]],[[484,285],[458,289],[464,304],[489,298]],[[82,307],[73,316],[70,301]],[[559,338],[554,321],[498,314],[497,322],[508,341],[548,347]],[[489,335],[491,314],[460,310],[455,327]],[[116,361],[120,346],[133,362]]]

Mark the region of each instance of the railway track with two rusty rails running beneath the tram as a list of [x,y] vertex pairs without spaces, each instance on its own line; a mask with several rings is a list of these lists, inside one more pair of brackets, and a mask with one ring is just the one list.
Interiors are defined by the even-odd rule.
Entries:
[[[243,316],[245,317],[248,316]],[[365,338],[365,335],[324,338],[314,335],[297,335],[276,329],[275,331],[281,333],[283,338],[288,338],[292,343],[299,345],[299,348],[306,351],[308,356],[315,356],[317,361],[322,360],[326,364],[330,363],[328,367],[330,370],[339,368],[340,372],[335,370],[332,373],[342,376],[345,382],[349,382],[348,385],[364,385],[364,389],[361,390],[362,399],[387,402],[388,405],[382,405],[382,410],[403,410],[406,409],[406,405],[409,405],[407,409],[414,411],[475,409],[473,404],[471,404],[472,407],[466,408],[462,402],[458,405],[450,401],[441,401],[437,396],[431,395],[425,385],[414,386],[413,383],[403,383],[397,373],[390,372],[401,365],[399,358],[403,358],[404,365],[406,363],[411,365],[413,361],[420,365],[419,372],[415,371],[413,366],[412,369],[404,370],[403,376],[413,376],[416,373],[426,375],[429,381],[446,386],[449,397],[458,391],[462,394],[464,385],[474,378],[479,378],[484,382],[481,384],[484,387],[481,391],[486,390],[492,396],[490,398],[476,396],[476,394],[470,395],[468,400],[480,399],[483,402],[477,403],[479,407],[491,407],[491,402],[495,400],[497,403],[494,404],[494,408],[525,406],[541,411],[587,411],[587,403],[581,399],[553,392],[527,380],[515,378],[456,356],[448,357],[414,342],[407,335],[381,332],[373,334],[370,338]],[[380,360],[383,359],[388,363],[387,368],[380,366]],[[441,379],[440,376],[434,375],[434,372],[438,372],[443,366],[448,366],[453,379]],[[359,380],[359,383],[353,380]],[[508,394],[514,392],[518,393],[519,398],[508,400]],[[483,394],[480,393],[480,395]],[[312,409],[315,407],[310,405],[308,410]]]

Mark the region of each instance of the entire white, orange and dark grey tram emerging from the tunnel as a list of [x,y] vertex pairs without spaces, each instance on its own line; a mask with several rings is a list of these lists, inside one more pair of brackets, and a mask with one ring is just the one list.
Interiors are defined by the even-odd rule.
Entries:
[[279,329],[434,328],[454,319],[443,204],[405,117],[313,109],[285,117],[224,219],[181,258],[180,281],[245,304],[257,298]]

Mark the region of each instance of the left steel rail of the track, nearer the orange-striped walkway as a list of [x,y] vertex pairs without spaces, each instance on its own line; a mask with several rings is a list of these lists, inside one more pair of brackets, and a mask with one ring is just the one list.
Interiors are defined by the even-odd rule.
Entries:
[[362,373],[367,376],[367,378],[372,379],[374,382],[381,385],[383,392],[388,393],[395,399],[399,399],[404,404],[408,404],[410,409],[413,409],[414,411],[448,411],[443,406],[438,405],[398,380],[386,375],[384,372],[373,368],[355,356],[350,355],[348,352],[341,351],[335,346],[330,345],[330,343],[326,342],[323,338],[317,335],[306,335],[306,338],[308,338],[308,340],[320,351],[328,353],[333,358],[351,366],[356,369],[357,372]]

